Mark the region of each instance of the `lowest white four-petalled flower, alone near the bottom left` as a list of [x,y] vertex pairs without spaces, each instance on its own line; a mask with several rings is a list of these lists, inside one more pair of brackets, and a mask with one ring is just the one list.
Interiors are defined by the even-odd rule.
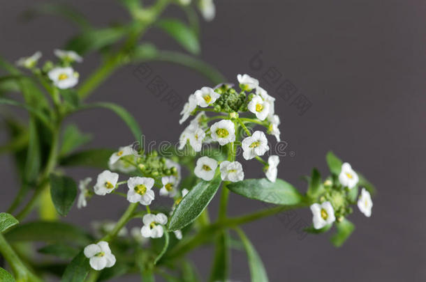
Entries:
[[85,247],[85,256],[89,258],[91,268],[102,270],[105,267],[115,265],[115,256],[111,253],[108,242],[101,241],[98,244],[89,244]]

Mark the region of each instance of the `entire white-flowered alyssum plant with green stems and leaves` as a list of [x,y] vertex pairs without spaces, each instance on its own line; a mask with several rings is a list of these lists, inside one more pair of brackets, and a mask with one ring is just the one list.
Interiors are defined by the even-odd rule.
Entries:
[[[189,2],[175,1],[193,16]],[[72,14],[83,31],[68,44],[73,51],[54,51],[56,62],[40,65],[39,52],[17,61],[20,68],[0,61],[0,67],[8,72],[0,77],[0,104],[22,107],[29,113],[26,127],[6,110],[1,111],[11,140],[0,147],[0,152],[10,152],[20,179],[15,200],[0,213],[0,253],[8,269],[0,267],[1,281],[40,282],[50,276],[74,282],[117,281],[126,274],[139,274],[142,281],[154,281],[154,276],[166,281],[228,281],[230,250],[242,245],[251,281],[263,282],[268,281],[265,267],[240,226],[309,207],[312,226],[305,231],[324,233],[335,226],[331,242],[340,246],[354,229],[347,219],[353,205],[371,216],[374,187],[332,152],[326,156],[330,175],[321,177],[313,169],[305,177],[308,184],[304,193],[277,178],[279,155],[270,154],[267,141],[267,134],[280,141],[274,97],[249,75],[238,75],[237,87],[219,84],[189,95],[179,123],[193,118],[179,137],[178,148],[169,148],[167,155],[147,151],[142,143],[118,150],[78,150],[89,136],[75,125],[64,127],[64,121],[71,114],[95,107],[114,111],[136,140],[142,136],[138,123],[124,108],[83,101],[118,67],[147,60],[172,61],[199,70],[214,82],[221,77],[191,56],[139,45],[142,33],[156,25],[189,52],[196,52],[193,29],[170,19],[157,19],[172,1],[158,0],[150,7],[133,0],[122,3],[132,16],[131,24],[125,26],[94,29]],[[212,1],[198,1],[198,5],[206,19],[212,19]],[[61,9],[52,11],[64,13]],[[98,33],[103,36],[96,37]],[[126,38],[124,45],[114,48],[122,38]],[[75,63],[81,63],[81,55],[90,51],[101,52],[104,61],[75,89],[81,79]],[[6,96],[8,93],[22,93],[24,102]],[[265,178],[244,175],[247,161],[258,162]],[[77,184],[66,175],[64,169],[69,166],[103,171]],[[275,206],[228,217],[230,192]],[[212,222],[208,205],[217,193],[219,214]],[[84,208],[91,198],[102,196],[127,201],[128,207],[116,219],[94,224],[93,233],[59,218],[71,212],[74,205]],[[169,198],[167,207],[158,204],[160,197]],[[35,207],[39,219],[26,221]],[[137,227],[129,231],[129,222]],[[210,276],[200,279],[186,254],[205,244],[214,245],[215,254]]]

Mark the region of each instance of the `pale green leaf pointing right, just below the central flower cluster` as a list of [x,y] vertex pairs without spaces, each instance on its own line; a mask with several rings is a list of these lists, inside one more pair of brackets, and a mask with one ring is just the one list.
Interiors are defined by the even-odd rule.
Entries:
[[295,205],[304,200],[298,189],[279,178],[275,182],[270,182],[265,178],[247,179],[230,183],[226,187],[247,198],[277,205]]

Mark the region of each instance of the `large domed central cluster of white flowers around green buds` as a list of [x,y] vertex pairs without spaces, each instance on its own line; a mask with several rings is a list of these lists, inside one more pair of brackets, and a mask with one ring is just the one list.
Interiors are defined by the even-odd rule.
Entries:
[[[237,147],[241,146],[244,159],[257,159],[263,164],[267,179],[275,182],[279,157],[273,155],[267,161],[263,160],[261,157],[270,150],[265,132],[256,130],[251,133],[247,128],[263,126],[267,133],[280,141],[279,116],[274,113],[275,98],[259,86],[257,79],[249,75],[237,75],[237,80],[240,91],[235,90],[233,84],[219,84],[215,88],[203,87],[189,95],[179,123],[184,123],[191,115],[196,116],[179,137],[179,149],[188,144],[193,151],[200,152],[203,143],[211,142],[228,146],[228,152],[232,152],[234,157],[220,163],[221,178],[237,182],[244,178],[242,164],[234,159]],[[207,113],[212,112],[220,115],[207,116]],[[209,125],[210,121],[212,124]],[[216,159],[200,157],[194,173],[198,178],[209,181],[218,166]]]

